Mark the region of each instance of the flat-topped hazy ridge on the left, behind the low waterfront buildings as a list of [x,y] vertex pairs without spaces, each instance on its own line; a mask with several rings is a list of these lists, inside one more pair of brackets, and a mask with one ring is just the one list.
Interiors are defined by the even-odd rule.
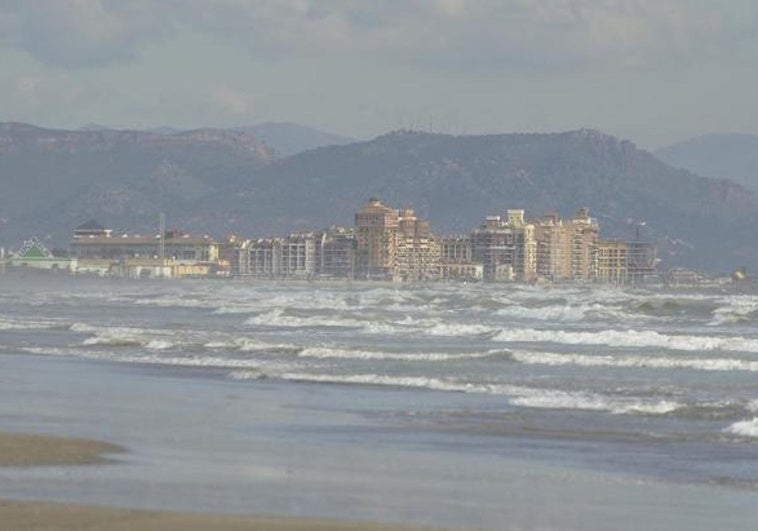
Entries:
[[153,230],[160,211],[189,230],[218,226],[219,205],[203,199],[240,186],[273,157],[245,133],[198,129],[64,131],[0,124],[0,245],[29,234],[66,245],[90,218],[129,230]]

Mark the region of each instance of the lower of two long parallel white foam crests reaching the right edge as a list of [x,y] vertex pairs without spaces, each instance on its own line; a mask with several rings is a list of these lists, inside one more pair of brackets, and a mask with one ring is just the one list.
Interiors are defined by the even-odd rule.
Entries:
[[626,355],[591,356],[552,352],[513,351],[512,358],[526,365],[579,365],[645,369],[695,369],[701,371],[758,371],[758,361],[735,358],[673,358]]

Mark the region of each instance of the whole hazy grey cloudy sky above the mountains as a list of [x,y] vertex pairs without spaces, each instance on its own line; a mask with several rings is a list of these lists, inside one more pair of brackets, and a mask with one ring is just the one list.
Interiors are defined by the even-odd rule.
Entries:
[[756,0],[0,0],[0,120],[758,134]]

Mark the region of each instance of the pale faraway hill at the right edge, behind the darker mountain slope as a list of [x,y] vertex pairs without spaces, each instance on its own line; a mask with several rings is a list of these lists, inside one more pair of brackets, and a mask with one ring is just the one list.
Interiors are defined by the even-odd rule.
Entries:
[[758,190],[758,136],[704,135],[659,149],[655,155],[676,168],[733,179]]

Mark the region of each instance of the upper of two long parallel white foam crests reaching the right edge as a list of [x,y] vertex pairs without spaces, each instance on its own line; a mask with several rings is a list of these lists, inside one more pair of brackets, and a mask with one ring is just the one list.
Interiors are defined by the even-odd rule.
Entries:
[[739,336],[697,336],[663,334],[654,330],[602,330],[600,332],[570,332],[565,330],[536,330],[532,328],[505,329],[492,338],[510,343],[563,343],[568,345],[606,345],[611,347],[660,347],[671,350],[706,351],[728,350],[758,352],[758,340]]

